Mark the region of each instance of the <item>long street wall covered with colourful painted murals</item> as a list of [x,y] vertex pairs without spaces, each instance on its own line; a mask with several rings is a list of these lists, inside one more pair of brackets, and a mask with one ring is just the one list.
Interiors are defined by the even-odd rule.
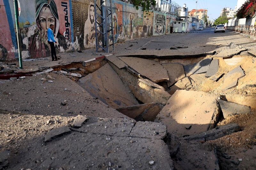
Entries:
[[[13,0],[0,0],[0,5],[0,59],[12,60],[18,57]],[[22,58],[50,56],[47,28],[51,24],[55,26],[57,53],[95,46],[93,1],[20,0],[20,7]],[[176,20],[175,16],[157,11],[143,12],[140,7],[136,10],[132,4],[117,0],[112,0],[112,7],[114,43],[171,33]],[[100,37],[98,40],[101,43]]]

